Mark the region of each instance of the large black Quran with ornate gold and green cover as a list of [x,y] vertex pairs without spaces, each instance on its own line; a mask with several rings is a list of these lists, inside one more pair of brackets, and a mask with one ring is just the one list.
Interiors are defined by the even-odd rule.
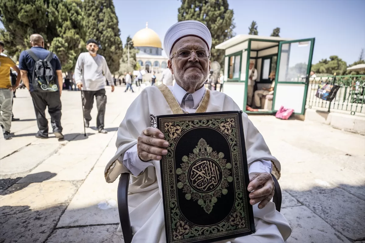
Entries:
[[168,243],[216,242],[255,232],[242,111],[157,116]]

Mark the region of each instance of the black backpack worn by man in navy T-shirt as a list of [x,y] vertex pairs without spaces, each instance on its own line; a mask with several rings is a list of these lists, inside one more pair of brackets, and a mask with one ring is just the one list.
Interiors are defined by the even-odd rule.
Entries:
[[31,50],[27,50],[27,52],[35,62],[32,74],[34,90],[39,92],[58,91],[57,75],[51,64],[53,52],[50,52],[44,60],[39,59]]

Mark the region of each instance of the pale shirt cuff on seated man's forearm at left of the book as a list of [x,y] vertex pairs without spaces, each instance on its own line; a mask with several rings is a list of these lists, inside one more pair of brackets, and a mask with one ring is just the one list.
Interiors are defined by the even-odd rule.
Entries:
[[139,159],[137,154],[137,144],[128,149],[124,153],[123,165],[126,167],[134,176],[138,176],[148,166],[153,166],[150,162],[143,162]]

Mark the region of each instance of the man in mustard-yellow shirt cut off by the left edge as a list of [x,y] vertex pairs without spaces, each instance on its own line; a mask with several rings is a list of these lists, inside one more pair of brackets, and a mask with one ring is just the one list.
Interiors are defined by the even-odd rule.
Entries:
[[[0,42],[0,53],[4,51],[4,43]],[[15,84],[10,80],[10,68],[14,69],[18,75]],[[11,139],[10,127],[12,121],[12,100],[13,92],[20,83],[20,70],[8,56],[0,55],[0,125],[3,129],[4,139]]]

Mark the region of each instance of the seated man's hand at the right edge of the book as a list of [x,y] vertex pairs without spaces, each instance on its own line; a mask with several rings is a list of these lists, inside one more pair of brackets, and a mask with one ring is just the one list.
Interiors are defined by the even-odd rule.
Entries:
[[274,180],[272,176],[267,173],[253,172],[249,174],[250,183],[247,190],[251,192],[249,194],[250,204],[258,204],[258,208],[263,208],[274,196]]

